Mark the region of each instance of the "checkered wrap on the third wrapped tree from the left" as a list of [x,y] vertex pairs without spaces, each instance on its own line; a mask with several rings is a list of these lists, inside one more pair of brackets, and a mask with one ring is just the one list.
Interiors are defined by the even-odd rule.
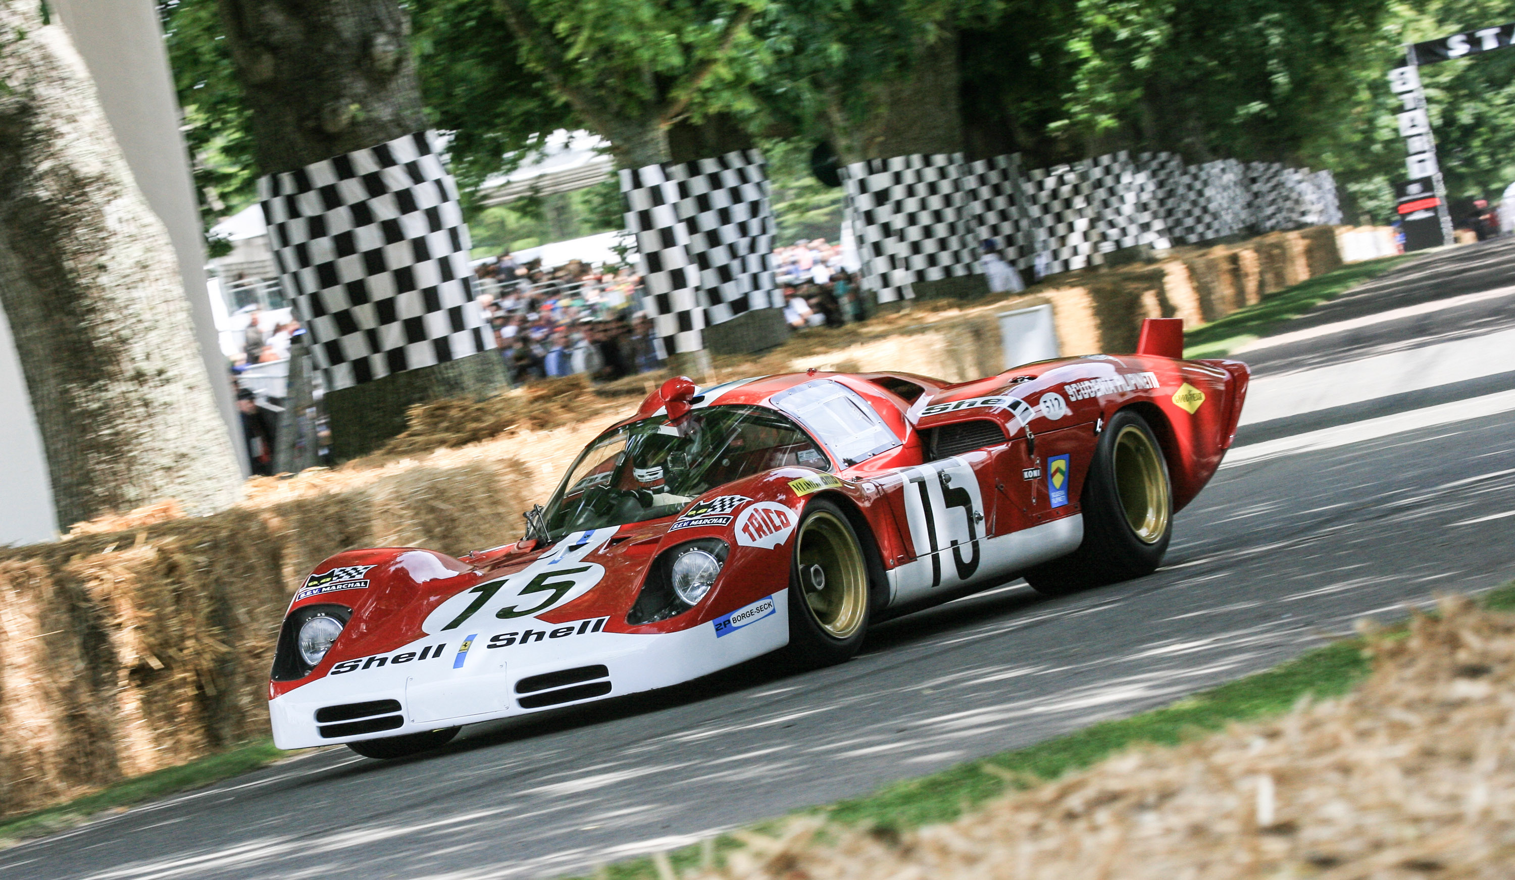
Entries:
[[965,173],[961,153],[914,153],[842,168],[865,286],[880,303],[914,297],[914,283],[979,270]]

